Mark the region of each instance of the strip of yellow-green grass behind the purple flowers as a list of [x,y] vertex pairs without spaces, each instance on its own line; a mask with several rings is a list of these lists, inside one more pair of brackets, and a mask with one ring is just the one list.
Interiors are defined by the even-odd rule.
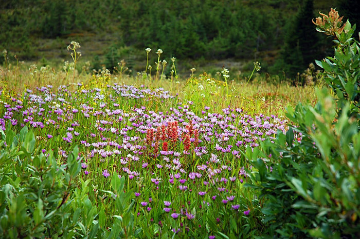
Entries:
[[[296,87],[289,83],[271,83],[265,81],[259,74],[255,74],[254,81],[247,84],[247,79],[228,80],[226,83],[219,76],[212,76],[206,72],[201,74],[192,74],[189,78],[176,79],[174,77],[162,79],[145,79],[137,76],[130,76],[124,73],[114,71],[111,74],[106,69],[99,72],[88,73],[85,69],[75,70],[75,81],[73,77],[67,77],[69,66],[64,63],[63,69],[56,69],[49,65],[37,67],[35,64],[20,64],[18,66],[9,65],[7,69],[1,67],[1,85],[0,87],[13,94],[22,94],[25,89],[34,89],[36,87],[52,85],[76,85],[82,83],[87,88],[106,88],[107,84],[127,84],[140,87],[163,87],[169,90],[173,95],[178,95],[179,102],[188,101],[196,104],[197,109],[201,110],[204,106],[212,106],[215,111],[221,111],[223,108],[240,107],[249,114],[277,114],[284,115],[285,107],[295,106],[298,102],[314,103],[316,95],[313,86]],[[72,72],[73,69],[70,69]],[[158,77],[160,78],[160,77]],[[200,112],[198,112],[200,113]]]

